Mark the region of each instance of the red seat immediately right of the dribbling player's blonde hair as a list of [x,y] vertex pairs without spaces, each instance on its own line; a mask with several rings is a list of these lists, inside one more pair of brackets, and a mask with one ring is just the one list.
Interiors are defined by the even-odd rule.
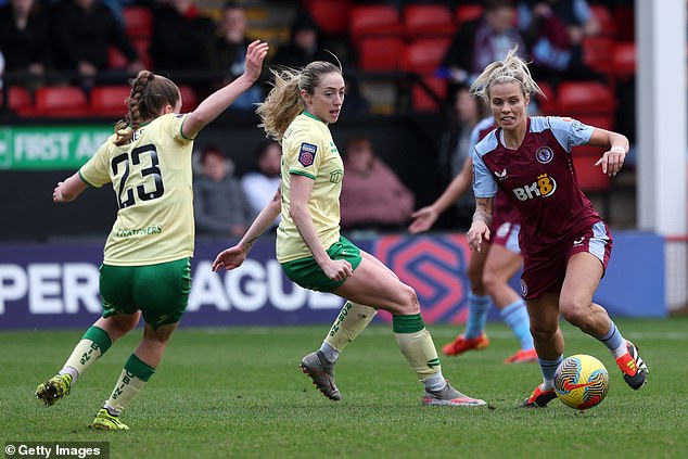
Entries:
[[562,116],[614,112],[614,93],[601,82],[564,81],[559,85],[557,93]]

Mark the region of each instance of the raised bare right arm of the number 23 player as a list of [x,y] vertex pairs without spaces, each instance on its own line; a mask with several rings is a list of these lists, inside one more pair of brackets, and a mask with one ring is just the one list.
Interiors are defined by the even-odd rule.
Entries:
[[[229,85],[213,92],[203,102],[199,104],[196,110],[191,112],[181,127],[182,133],[187,139],[195,138],[208,123],[217,118],[220,113],[225,112],[239,95],[253,86],[260,76],[263,71],[263,61],[268,53],[268,43],[255,40],[246,49],[246,67],[241,74]],[[183,102],[183,101],[182,101]]]

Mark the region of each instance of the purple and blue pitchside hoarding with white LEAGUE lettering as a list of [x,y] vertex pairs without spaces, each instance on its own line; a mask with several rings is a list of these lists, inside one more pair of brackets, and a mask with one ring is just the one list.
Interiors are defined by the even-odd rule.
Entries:
[[[428,323],[462,322],[470,252],[463,234],[355,239],[412,285]],[[294,285],[275,259],[275,241],[259,240],[244,265],[211,270],[224,245],[199,242],[183,326],[330,323],[342,301]],[[0,329],[82,328],[100,315],[100,243],[0,244]],[[518,277],[512,280],[518,289]],[[662,317],[664,243],[652,234],[614,234],[609,271],[596,295],[612,315]],[[492,317],[498,317],[495,308]],[[390,320],[380,314],[379,320]]]

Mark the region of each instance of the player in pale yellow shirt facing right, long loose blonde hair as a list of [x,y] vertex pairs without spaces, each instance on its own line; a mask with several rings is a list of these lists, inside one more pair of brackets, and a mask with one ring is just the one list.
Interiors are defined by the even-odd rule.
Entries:
[[425,387],[423,405],[485,405],[444,379],[413,289],[340,235],[344,166],[328,125],[337,120],[344,102],[342,69],[316,61],[302,71],[273,74],[275,87],[256,113],[267,135],[282,143],[281,189],[242,240],[217,255],[213,269],[239,267],[281,212],[277,258],[289,278],[347,299],[320,349],[301,361],[320,392],[332,400],[342,398],[334,384],[334,364],[382,308],[392,313],[397,344]]

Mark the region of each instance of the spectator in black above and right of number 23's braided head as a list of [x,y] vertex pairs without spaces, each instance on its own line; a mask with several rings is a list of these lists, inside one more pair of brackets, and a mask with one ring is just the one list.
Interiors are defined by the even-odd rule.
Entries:
[[205,55],[215,37],[215,24],[201,14],[195,1],[168,0],[154,13],[150,53],[155,67],[173,78],[170,71],[207,68]]

